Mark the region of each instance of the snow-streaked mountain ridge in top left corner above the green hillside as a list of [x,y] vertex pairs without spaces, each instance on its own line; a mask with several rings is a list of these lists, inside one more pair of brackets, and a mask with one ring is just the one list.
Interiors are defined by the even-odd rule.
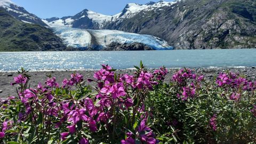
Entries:
[[10,0],[0,0],[0,10],[12,15],[14,18],[27,23],[36,23],[41,26],[47,26],[40,18],[36,15],[29,13],[23,7],[18,6]]

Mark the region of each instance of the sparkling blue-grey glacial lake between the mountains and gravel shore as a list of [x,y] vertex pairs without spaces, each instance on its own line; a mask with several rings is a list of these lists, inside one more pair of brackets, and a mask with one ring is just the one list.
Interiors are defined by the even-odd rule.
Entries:
[[148,68],[255,67],[256,49],[170,51],[1,52],[0,71],[99,69],[102,63],[116,69],[133,68],[140,60]]

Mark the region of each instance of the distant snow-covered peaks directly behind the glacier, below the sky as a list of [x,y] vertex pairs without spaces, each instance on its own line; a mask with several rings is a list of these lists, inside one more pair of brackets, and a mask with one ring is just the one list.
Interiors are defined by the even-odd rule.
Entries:
[[147,13],[149,11],[162,10],[163,7],[172,6],[175,2],[164,2],[159,1],[158,3],[149,2],[147,4],[130,3],[125,8],[115,15],[104,15],[90,10],[83,10],[77,13],[73,17],[50,18],[43,20],[47,25],[51,27],[66,26],[73,28],[84,28],[84,29],[107,29],[110,23],[121,23],[124,20],[133,18],[140,12]]

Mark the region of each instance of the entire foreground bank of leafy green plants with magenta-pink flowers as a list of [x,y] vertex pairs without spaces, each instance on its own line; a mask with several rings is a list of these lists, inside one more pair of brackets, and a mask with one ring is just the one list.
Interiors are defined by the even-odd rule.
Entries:
[[234,73],[206,81],[190,69],[164,83],[167,69],[117,74],[102,65],[87,79],[62,84],[48,76],[30,87],[22,69],[2,99],[1,143],[218,143],[255,142],[256,83]]

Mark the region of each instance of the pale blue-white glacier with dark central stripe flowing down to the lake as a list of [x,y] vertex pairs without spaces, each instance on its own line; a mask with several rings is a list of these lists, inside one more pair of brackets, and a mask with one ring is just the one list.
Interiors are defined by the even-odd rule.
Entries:
[[54,34],[63,39],[67,46],[77,49],[86,50],[88,47],[108,47],[111,43],[132,44],[140,43],[151,47],[154,50],[172,50],[173,47],[168,45],[161,38],[151,35],[141,35],[128,33],[119,30],[92,30],[79,29],[70,27],[50,27]]

